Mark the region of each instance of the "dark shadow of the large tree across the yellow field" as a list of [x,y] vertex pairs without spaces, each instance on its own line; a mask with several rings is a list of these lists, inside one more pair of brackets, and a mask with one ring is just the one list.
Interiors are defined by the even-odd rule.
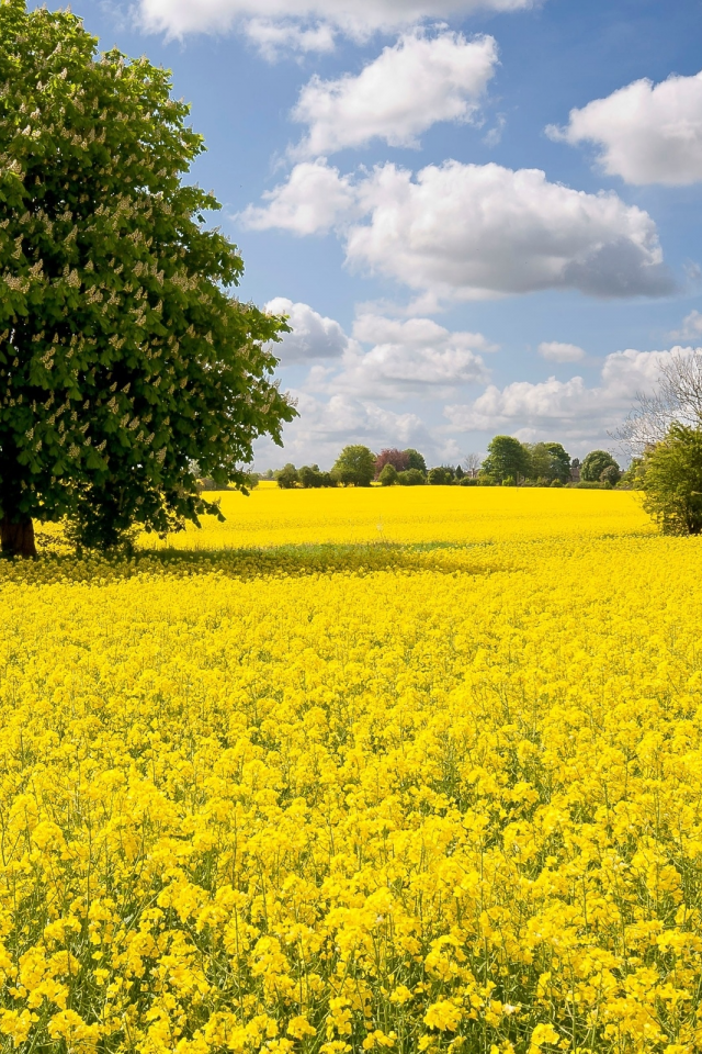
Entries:
[[48,554],[37,561],[0,561],[0,586],[5,582],[107,585],[135,576],[230,579],[304,578],[318,574],[485,575],[521,570],[494,542],[454,545],[428,542],[395,545],[296,545],[270,549],[148,550],[133,557],[89,554],[81,558]]

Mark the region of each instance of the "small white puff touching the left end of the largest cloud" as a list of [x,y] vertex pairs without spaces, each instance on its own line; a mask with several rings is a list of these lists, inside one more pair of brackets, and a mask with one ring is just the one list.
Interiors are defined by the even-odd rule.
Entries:
[[239,214],[251,231],[276,227],[293,234],[326,234],[356,211],[356,190],[326,159],[296,165],[286,183],[263,194],[268,205],[249,205]]

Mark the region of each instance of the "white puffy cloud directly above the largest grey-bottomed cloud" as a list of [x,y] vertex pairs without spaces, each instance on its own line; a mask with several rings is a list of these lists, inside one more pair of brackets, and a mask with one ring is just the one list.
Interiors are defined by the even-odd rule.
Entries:
[[294,153],[332,154],[373,138],[418,146],[417,136],[438,121],[471,121],[496,64],[491,36],[407,34],[358,77],[313,77],[293,111],[295,121],[309,126]]

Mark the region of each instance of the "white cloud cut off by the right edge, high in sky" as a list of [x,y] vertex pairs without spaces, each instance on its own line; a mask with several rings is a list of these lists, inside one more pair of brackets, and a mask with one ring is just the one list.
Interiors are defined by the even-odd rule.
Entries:
[[605,99],[571,110],[553,138],[596,143],[610,176],[639,186],[683,187],[702,180],[702,72],[659,85],[635,80]]

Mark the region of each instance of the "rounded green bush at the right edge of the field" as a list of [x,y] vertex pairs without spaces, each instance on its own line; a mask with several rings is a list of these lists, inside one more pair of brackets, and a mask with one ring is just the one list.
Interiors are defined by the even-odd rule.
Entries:
[[702,534],[702,431],[672,425],[644,455],[644,508],[665,535]]

